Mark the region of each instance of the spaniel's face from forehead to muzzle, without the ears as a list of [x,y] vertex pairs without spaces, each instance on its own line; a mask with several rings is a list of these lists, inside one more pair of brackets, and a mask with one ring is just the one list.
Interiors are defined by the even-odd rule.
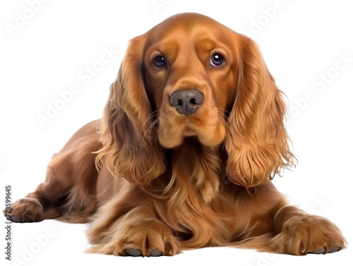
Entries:
[[237,37],[214,20],[182,15],[148,32],[143,75],[164,147],[177,147],[186,136],[208,146],[225,139],[238,78]]

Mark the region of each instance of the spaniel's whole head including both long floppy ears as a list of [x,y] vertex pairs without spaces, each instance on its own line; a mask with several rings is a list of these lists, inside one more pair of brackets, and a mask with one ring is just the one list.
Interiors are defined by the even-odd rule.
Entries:
[[131,40],[104,109],[98,158],[145,186],[164,172],[164,149],[193,137],[225,148],[229,180],[258,186],[292,164],[284,116],[256,44],[183,13]]

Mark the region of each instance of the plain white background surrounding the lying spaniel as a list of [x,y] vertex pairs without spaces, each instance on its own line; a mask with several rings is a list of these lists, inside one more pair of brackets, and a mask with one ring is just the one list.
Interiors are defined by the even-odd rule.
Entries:
[[[52,153],[80,126],[100,118],[128,40],[175,13],[192,11],[258,42],[291,104],[287,128],[299,156],[297,169],[276,177],[274,183],[307,212],[333,220],[352,243],[352,1],[61,0],[31,7],[32,2],[0,4],[1,206],[5,184],[13,186],[13,200],[34,191],[44,181]],[[160,6],[153,8],[151,3]],[[11,27],[18,28],[11,32]],[[104,49],[119,54],[100,64]],[[345,56],[348,59],[342,61]],[[92,65],[100,71],[91,80],[83,79],[83,71]],[[73,84],[80,92],[41,126],[38,114],[46,115],[48,104],[57,102],[59,92]],[[6,262],[4,223],[5,219],[1,265]],[[19,262],[13,265],[323,266],[352,265],[353,257],[351,249],[294,257],[203,248],[173,258],[116,258],[84,253],[89,246],[85,229],[83,224],[56,221],[13,224],[12,255]]]

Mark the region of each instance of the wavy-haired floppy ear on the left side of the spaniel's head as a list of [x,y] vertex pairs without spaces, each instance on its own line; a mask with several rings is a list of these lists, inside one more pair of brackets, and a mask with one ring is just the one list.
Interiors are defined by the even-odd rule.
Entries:
[[107,165],[114,176],[147,186],[164,172],[164,156],[158,150],[152,109],[143,83],[142,60],[145,35],[131,40],[115,82],[110,87],[102,117],[96,164]]

